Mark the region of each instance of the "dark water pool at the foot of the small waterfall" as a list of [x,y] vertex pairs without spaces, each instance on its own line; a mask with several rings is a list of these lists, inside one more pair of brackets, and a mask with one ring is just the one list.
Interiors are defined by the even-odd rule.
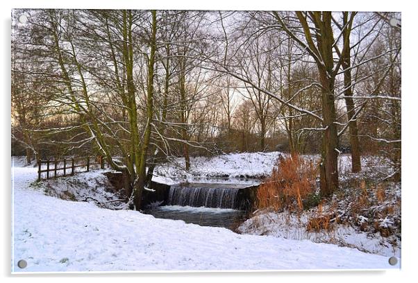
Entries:
[[212,207],[189,207],[178,205],[165,205],[146,209],[146,214],[156,218],[183,220],[185,223],[194,223],[201,226],[235,228],[236,224],[246,218],[246,213],[237,209],[224,209]]

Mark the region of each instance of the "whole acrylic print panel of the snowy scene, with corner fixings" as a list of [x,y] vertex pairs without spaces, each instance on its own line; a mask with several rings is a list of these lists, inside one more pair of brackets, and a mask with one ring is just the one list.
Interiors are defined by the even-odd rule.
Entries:
[[401,14],[12,10],[12,272],[401,264]]

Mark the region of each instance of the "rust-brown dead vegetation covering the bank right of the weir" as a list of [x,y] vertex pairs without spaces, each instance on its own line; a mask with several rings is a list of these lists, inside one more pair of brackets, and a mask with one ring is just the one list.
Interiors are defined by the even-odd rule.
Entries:
[[361,173],[345,171],[340,175],[340,189],[327,198],[317,194],[313,163],[298,155],[281,157],[258,189],[258,211],[246,228],[253,234],[283,236],[284,232],[274,229],[289,227],[288,237],[293,239],[353,247],[341,237],[346,227],[370,239],[382,237],[383,246],[400,248],[401,182],[382,178],[387,168],[381,160],[369,159]]

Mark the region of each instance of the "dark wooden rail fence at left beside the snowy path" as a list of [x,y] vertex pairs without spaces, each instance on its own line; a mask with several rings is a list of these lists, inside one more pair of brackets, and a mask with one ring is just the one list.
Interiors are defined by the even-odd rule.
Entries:
[[[105,168],[105,160],[103,157],[97,158],[91,162],[90,157],[70,158],[62,160],[37,160],[37,180],[42,180],[42,173],[47,173],[46,179],[57,178],[60,176],[74,175],[74,173],[88,172],[91,166],[100,166],[100,169]],[[42,164],[47,164],[46,169],[42,169]],[[85,167],[85,171],[76,171],[76,168]],[[61,174],[60,171],[63,173]],[[45,178],[44,178],[45,179]]]

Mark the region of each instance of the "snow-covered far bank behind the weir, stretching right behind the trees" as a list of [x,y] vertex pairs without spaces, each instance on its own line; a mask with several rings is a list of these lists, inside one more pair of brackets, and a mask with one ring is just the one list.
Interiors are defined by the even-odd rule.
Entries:
[[[191,168],[185,171],[185,160],[176,157],[165,164],[156,166],[153,180],[172,185],[178,182],[225,182],[258,184],[262,178],[271,174],[278,157],[287,155],[280,151],[270,153],[230,153],[213,157],[190,157]],[[302,155],[308,160],[319,162],[319,155]],[[376,156],[362,156],[362,171],[367,173],[390,174],[385,166],[388,160]],[[338,157],[341,178],[351,172],[351,155]]]

